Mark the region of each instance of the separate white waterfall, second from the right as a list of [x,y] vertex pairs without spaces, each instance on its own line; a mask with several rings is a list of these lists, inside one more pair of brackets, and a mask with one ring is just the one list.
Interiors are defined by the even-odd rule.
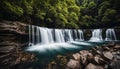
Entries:
[[92,31],[92,37],[90,41],[103,41],[102,39],[102,30],[101,29],[94,29]]

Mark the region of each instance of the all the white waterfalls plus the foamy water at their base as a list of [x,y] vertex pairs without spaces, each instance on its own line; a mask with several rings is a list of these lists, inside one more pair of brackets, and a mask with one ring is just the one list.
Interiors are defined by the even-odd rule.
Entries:
[[[106,30],[105,40],[116,40],[114,29]],[[51,57],[55,54],[76,52],[103,43],[101,29],[92,30],[90,41],[84,41],[84,34],[80,29],[49,29],[31,25],[29,26],[29,47],[26,51],[37,51],[40,55],[49,54]]]

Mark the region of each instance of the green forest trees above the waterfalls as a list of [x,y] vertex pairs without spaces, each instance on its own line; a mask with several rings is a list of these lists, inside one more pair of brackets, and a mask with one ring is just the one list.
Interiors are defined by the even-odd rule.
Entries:
[[1,0],[0,20],[52,28],[120,25],[120,0]]

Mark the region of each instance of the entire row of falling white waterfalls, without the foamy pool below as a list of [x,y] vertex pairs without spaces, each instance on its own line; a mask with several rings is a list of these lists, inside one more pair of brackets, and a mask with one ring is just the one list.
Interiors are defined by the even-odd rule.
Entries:
[[[84,32],[80,29],[51,29],[29,25],[29,46],[44,45],[51,43],[70,43],[84,41]],[[117,40],[114,29],[106,30],[105,41]],[[103,41],[102,30],[92,30],[92,37],[89,41]]]

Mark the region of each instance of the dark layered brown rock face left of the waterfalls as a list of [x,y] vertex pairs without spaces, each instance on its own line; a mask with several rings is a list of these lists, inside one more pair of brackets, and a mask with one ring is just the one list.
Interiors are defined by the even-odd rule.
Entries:
[[27,24],[20,22],[0,22],[0,69],[14,67],[33,58],[33,54],[22,49],[28,43],[27,28]]

